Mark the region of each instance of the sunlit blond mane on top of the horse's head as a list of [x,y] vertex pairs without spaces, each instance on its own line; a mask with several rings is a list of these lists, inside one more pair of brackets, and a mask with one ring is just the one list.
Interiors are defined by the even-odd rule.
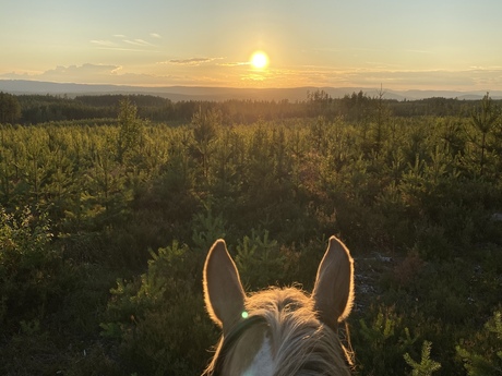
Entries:
[[[350,375],[347,366],[351,365],[350,355],[340,343],[336,328],[327,327],[316,317],[312,300],[301,290],[273,287],[249,295],[244,306],[249,315],[262,316],[266,323],[261,328],[271,339],[274,376]],[[222,345],[223,339],[204,376],[214,374]],[[235,345],[226,356],[226,366],[234,356],[243,357],[237,349]],[[239,372],[228,368],[229,375]]]

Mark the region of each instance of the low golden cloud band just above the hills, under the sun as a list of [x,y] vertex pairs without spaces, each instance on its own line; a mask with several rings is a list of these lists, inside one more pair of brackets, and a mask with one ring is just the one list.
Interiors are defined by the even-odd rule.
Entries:
[[[383,69],[346,69],[331,66],[295,66],[251,72],[246,68],[227,68],[211,64],[220,58],[172,59],[159,65],[152,64],[147,71],[122,68],[116,64],[58,65],[45,72],[12,72],[0,74],[2,78],[38,80],[65,83],[118,84],[118,85],[213,85],[262,87],[338,86],[380,87],[389,89],[502,89],[501,66],[474,66],[462,71],[399,71]],[[193,66],[199,66],[193,69]]]

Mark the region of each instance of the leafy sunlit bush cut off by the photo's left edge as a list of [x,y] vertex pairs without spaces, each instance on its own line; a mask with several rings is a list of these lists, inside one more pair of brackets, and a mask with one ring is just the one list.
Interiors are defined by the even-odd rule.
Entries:
[[51,238],[46,216],[29,208],[12,214],[0,208],[0,325],[7,333],[59,306],[60,279],[68,275]]

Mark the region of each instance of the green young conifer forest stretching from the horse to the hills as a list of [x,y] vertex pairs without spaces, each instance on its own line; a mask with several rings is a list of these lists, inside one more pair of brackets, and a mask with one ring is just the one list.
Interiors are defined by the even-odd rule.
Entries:
[[248,291],[355,258],[355,375],[502,374],[502,112],[0,96],[0,374],[200,375],[202,267]]

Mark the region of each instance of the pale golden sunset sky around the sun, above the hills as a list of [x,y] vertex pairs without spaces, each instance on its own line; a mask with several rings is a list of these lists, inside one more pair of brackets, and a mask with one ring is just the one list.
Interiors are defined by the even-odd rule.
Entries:
[[501,0],[0,0],[0,80],[501,90]]

